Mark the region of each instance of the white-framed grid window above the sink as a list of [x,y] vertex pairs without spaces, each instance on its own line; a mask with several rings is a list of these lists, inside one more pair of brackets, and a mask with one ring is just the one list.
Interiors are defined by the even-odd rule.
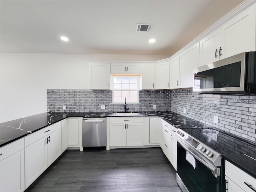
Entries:
[[112,75],[112,103],[139,103],[139,87],[139,75]]

